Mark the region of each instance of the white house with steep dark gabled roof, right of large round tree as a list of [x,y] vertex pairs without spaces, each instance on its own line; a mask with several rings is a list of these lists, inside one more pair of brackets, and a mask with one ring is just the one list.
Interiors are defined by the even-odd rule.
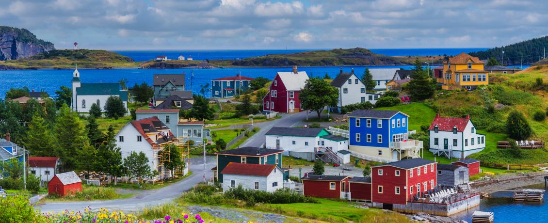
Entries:
[[380,97],[379,94],[367,93],[366,85],[354,74],[353,69],[350,73],[343,73],[341,68],[339,75],[333,79],[331,85],[339,90],[337,107],[366,101],[374,105]]

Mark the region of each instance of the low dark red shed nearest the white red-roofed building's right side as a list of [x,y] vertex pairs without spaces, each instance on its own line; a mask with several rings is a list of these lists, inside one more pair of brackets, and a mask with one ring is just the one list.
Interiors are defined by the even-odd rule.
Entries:
[[350,176],[309,174],[301,180],[305,196],[341,198],[342,192],[350,192]]

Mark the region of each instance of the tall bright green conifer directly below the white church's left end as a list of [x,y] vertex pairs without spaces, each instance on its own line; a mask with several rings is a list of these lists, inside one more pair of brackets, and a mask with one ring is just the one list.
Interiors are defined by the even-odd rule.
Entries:
[[57,139],[56,156],[61,158],[62,170],[73,170],[76,168],[77,152],[86,144],[84,127],[78,118],[78,114],[63,105],[54,128]]

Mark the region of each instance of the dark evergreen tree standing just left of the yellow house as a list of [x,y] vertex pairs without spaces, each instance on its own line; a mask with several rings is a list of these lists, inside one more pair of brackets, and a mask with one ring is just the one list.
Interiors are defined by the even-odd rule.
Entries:
[[419,58],[415,58],[413,63],[413,71],[411,78],[407,84],[407,89],[412,100],[425,100],[430,98],[436,91],[436,82],[430,78],[430,75],[423,68],[423,62]]

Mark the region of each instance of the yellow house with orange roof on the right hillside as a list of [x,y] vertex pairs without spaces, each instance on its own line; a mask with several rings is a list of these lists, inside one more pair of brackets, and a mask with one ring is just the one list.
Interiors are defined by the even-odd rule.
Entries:
[[479,58],[461,53],[443,62],[442,77],[437,77],[436,81],[444,90],[473,90],[479,85],[488,85],[489,74],[483,70],[483,65]]

